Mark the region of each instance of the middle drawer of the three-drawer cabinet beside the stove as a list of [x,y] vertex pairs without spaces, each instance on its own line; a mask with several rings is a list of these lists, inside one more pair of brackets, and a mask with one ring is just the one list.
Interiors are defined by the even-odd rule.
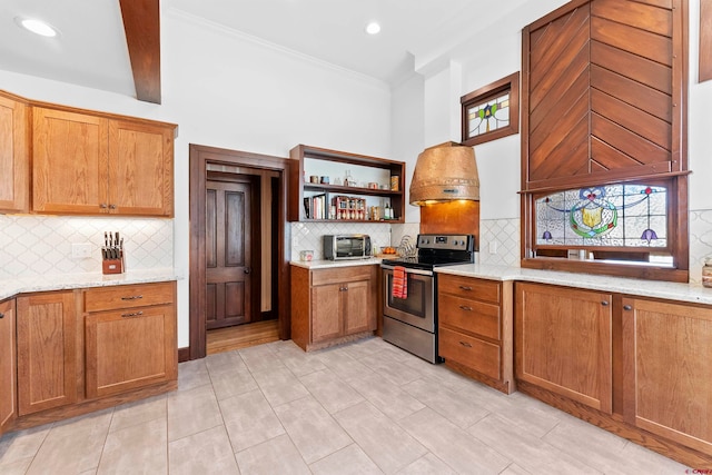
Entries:
[[500,306],[482,301],[442,295],[437,307],[439,323],[464,331],[500,340],[502,328]]

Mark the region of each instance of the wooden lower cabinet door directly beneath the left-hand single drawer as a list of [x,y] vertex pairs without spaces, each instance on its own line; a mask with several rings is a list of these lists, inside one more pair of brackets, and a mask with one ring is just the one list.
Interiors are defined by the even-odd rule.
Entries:
[[177,377],[172,305],[88,314],[85,344],[88,398]]

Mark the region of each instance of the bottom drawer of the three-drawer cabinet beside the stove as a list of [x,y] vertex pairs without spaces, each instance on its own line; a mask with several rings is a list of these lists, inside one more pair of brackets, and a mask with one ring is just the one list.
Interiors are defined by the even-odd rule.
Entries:
[[500,346],[447,328],[439,329],[439,355],[494,379],[502,379]]

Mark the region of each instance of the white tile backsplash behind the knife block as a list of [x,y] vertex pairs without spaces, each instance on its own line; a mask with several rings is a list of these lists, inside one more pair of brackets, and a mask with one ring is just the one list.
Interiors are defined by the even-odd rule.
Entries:
[[[174,220],[0,215],[0,279],[101,271],[105,231],[123,237],[127,269],[174,266]],[[72,258],[72,244],[91,257]]]

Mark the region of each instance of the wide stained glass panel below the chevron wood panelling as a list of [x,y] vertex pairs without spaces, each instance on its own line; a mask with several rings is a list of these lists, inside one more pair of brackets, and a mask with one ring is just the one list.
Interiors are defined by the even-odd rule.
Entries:
[[538,246],[668,247],[668,189],[610,185],[536,200]]

